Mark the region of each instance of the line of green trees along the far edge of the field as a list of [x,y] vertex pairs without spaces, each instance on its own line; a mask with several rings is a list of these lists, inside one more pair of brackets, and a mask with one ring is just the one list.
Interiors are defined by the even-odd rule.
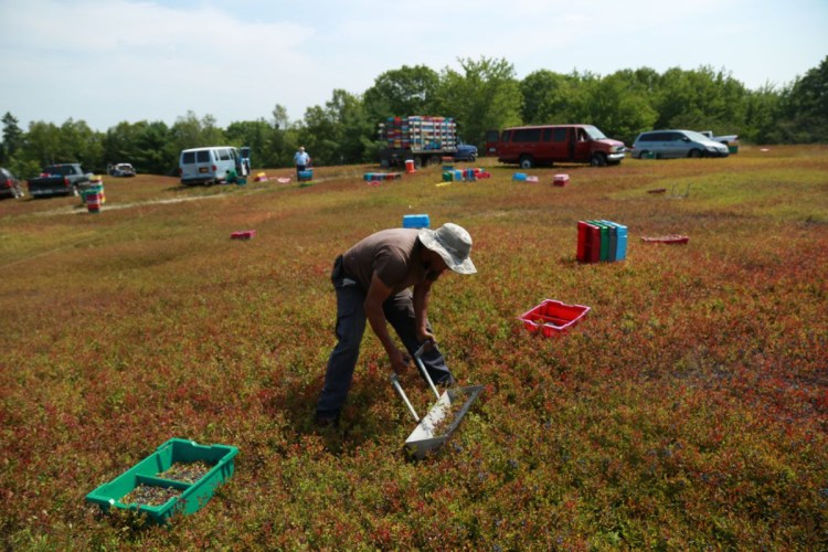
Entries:
[[606,76],[539,70],[518,79],[506,60],[458,60],[460,70],[424,65],[386,71],[362,94],[335,89],[323,106],[291,121],[276,104],[269,117],[220,128],[193,112],[163,121],[121,121],[105,132],[84,120],[32,121],[2,117],[0,164],[22,178],[54,162],[81,162],[102,172],[131,162],[139,172],[174,174],[182,149],[250,146],[254,167],[288,167],[299,145],[319,166],[376,161],[378,124],[391,116],[454,117],[466,142],[482,147],[486,131],[516,125],[588,123],[631,145],[659,128],[737,134],[751,144],[828,142],[828,56],[793,83],[747,89],[725,71],[649,67]]

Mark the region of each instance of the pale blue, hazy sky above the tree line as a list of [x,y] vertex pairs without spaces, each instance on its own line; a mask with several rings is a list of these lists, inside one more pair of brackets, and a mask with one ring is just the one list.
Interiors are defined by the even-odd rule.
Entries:
[[702,65],[782,87],[828,55],[826,0],[0,0],[0,114],[291,120],[385,71],[459,57],[607,75]]

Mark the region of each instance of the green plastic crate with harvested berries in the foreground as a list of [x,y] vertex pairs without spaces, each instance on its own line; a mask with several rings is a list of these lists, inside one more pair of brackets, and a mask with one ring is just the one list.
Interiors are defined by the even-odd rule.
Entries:
[[[124,474],[86,495],[86,500],[98,505],[104,511],[109,508],[135,510],[146,513],[157,523],[163,523],[177,513],[193,513],[206,505],[215,488],[233,475],[233,458],[237,454],[238,449],[233,446],[199,445],[194,440],[172,438]],[[195,461],[212,467],[194,481],[164,475],[176,464]],[[174,496],[161,505],[125,501],[141,485]]]

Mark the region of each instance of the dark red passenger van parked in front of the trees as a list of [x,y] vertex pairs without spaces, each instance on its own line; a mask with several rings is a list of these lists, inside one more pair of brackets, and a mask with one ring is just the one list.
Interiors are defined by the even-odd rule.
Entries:
[[607,138],[592,125],[511,127],[500,132],[497,142],[487,140],[488,155],[493,153],[490,148],[497,149],[498,161],[519,163],[522,169],[554,162],[618,164],[626,151],[624,142]]

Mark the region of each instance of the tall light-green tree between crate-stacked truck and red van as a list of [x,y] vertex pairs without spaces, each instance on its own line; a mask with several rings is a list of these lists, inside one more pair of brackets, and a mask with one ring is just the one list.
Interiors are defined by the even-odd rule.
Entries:
[[520,86],[506,60],[458,62],[463,73],[446,67],[440,75],[437,115],[454,117],[464,139],[481,147],[486,130],[520,123]]

